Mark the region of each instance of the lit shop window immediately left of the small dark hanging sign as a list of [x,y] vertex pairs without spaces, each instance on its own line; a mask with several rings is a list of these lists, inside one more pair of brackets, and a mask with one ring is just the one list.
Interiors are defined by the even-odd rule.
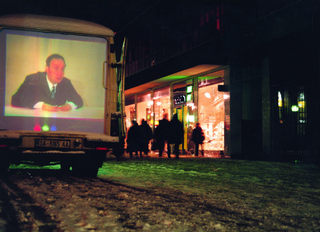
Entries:
[[163,119],[163,114],[167,113],[169,118],[170,112],[170,87],[157,89],[153,93],[155,127],[159,125],[159,120]]

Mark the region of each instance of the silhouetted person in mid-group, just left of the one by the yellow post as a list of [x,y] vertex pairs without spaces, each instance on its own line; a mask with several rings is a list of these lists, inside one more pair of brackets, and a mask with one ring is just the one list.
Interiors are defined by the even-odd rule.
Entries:
[[164,113],[163,119],[159,121],[159,125],[155,130],[155,136],[154,136],[157,147],[159,149],[159,157],[162,157],[165,143],[167,143],[168,157],[170,157],[170,146],[168,144],[168,129],[169,129],[168,114]]

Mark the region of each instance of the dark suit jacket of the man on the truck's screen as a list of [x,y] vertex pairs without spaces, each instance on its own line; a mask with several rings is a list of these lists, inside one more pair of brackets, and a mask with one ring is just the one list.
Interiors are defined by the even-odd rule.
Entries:
[[73,102],[77,108],[83,106],[83,100],[77,93],[71,81],[64,77],[56,87],[56,94],[51,98],[45,72],[28,75],[20,85],[17,92],[12,96],[12,106],[33,108],[38,102],[50,105],[64,105],[67,101]]

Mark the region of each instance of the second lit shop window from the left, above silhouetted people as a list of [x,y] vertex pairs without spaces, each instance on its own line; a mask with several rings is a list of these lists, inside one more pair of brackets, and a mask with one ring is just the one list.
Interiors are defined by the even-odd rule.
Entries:
[[139,94],[137,98],[137,122],[140,125],[141,120],[144,119],[151,126],[152,120],[152,104],[151,93]]

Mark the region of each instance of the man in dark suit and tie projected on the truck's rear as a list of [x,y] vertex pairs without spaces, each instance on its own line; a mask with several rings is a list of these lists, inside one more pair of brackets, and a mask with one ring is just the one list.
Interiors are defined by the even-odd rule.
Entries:
[[50,55],[46,71],[28,75],[12,96],[11,105],[46,111],[70,111],[83,106],[71,81],[64,77],[66,63],[61,55]]

